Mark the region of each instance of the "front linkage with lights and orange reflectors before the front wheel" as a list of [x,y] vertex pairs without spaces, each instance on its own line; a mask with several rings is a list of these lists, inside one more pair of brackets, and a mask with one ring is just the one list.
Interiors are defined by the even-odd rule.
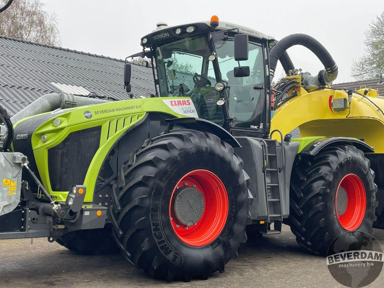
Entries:
[[[35,199],[28,182],[21,181],[21,169],[18,172],[20,177],[15,179],[3,179],[3,188],[13,189],[12,187],[20,187],[21,195],[18,200],[16,209],[7,213],[7,205],[15,203],[7,202],[2,206],[0,213],[0,239],[16,239],[16,238],[36,238],[48,237],[48,241],[53,242],[65,233],[80,229],[103,228],[106,221],[106,207],[100,207],[96,204],[83,204],[86,195],[86,187],[84,185],[72,185],[65,202],[58,202],[51,198],[46,192],[41,182],[36,178],[35,174],[30,170],[26,156],[21,153],[1,152],[1,157],[6,159],[12,156],[14,164],[19,164],[28,170],[31,177],[35,179],[39,185],[38,199]],[[8,154],[8,155],[7,155]],[[3,165],[1,161],[0,165]],[[6,162],[9,166],[9,162]],[[7,171],[9,167],[2,167],[3,171]],[[9,177],[12,178],[12,177]],[[8,183],[10,186],[7,186]],[[12,186],[11,186],[12,185]],[[9,190],[12,192],[13,190]],[[16,191],[16,189],[15,189]],[[11,195],[8,192],[7,195]],[[16,193],[13,196],[17,196]],[[3,202],[5,204],[5,201]]]

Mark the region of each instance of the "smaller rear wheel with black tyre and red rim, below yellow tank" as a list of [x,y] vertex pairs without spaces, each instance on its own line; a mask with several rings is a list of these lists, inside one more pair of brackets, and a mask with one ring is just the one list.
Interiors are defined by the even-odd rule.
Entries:
[[[340,145],[309,157],[296,162],[291,177],[289,223],[298,244],[326,255],[341,233],[360,230],[372,234],[377,186],[364,153],[354,146]],[[346,183],[348,178],[356,185]],[[353,195],[358,195],[358,200]]]

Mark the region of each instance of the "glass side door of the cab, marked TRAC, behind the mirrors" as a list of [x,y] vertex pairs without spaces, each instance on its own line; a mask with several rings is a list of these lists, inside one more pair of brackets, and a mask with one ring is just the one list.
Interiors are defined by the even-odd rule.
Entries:
[[[234,59],[234,40],[228,38],[225,41],[215,42],[218,65],[223,81],[230,86],[228,98],[228,114],[235,119],[232,126],[259,129],[264,97],[264,89],[255,90],[254,86],[264,86],[264,64],[262,46],[257,43],[248,43],[248,60],[240,61],[241,66],[250,66],[250,76],[237,77],[233,74],[233,68],[238,66]],[[212,67],[208,76],[214,75]]]

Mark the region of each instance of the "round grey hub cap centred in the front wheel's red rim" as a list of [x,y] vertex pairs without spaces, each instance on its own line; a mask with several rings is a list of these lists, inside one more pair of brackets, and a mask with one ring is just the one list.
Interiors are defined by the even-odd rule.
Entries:
[[175,222],[184,226],[197,223],[204,212],[204,196],[193,187],[182,187],[175,198]]

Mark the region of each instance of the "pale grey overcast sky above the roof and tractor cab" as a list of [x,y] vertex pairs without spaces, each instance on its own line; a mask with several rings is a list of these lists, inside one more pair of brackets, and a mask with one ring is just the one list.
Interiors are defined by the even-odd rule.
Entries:
[[[306,33],[320,41],[339,66],[335,83],[353,81],[353,59],[364,53],[364,31],[384,10],[378,0],[42,0],[58,16],[61,46],[124,59],[141,51],[140,38],[164,21],[178,25],[219,20],[253,28],[281,39]],[[296,68],[317,74],[323,69],[309,50],[288,50]],[[280,77],[279,65],[276,76]]]

